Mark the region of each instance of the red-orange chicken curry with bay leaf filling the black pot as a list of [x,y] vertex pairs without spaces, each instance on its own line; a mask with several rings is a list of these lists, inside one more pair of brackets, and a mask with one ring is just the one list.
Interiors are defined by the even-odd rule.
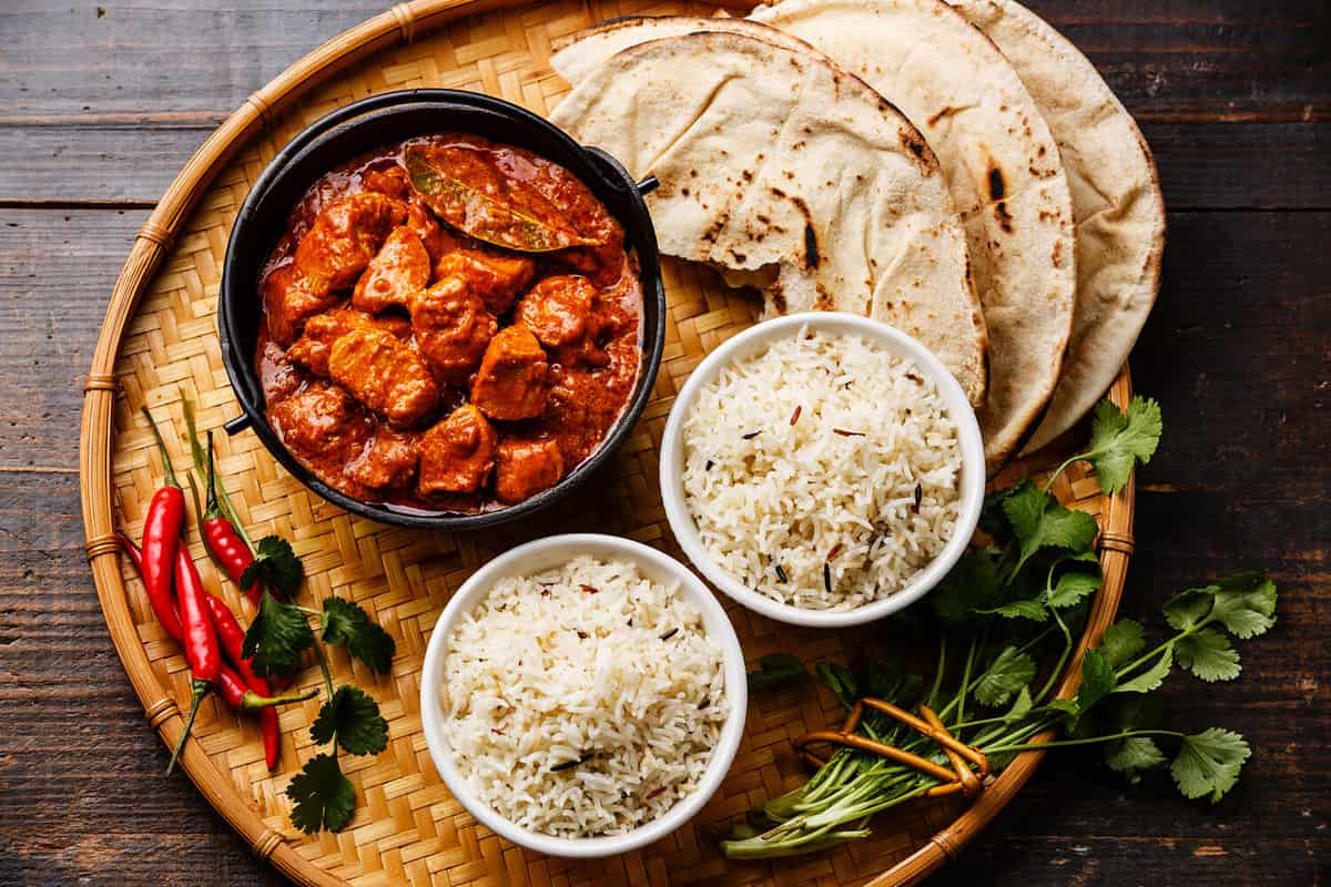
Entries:
[[596,449],[639,372],[619,223],[564,168],[476,136],[414,138],[319,178],[260,291],[269,422],[361,501],[520,503]]

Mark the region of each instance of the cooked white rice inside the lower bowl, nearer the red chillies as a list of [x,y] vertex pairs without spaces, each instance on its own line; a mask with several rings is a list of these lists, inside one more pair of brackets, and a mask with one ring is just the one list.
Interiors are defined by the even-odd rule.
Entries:
[[587,556],[496,582],[449,638],[441,698],[476,795],[560,838],[622,834],[673,807],[728,714],[721,652],[693,605],[634,564]]

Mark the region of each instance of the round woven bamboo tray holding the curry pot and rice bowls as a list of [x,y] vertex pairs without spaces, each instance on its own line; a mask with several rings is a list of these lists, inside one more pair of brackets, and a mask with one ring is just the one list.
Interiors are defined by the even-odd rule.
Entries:
[[[552,39],[603,19],[689,11],[697,4],[417,0],[347,31],[258,90],[222,124],[181,170],[144,223],[110,298],[85,382],[80,432],[88,557],[112,640],[149,723],[170,746],[180,737],[189,674],[181,650],[153,618],[144,588],[116,556],[113,531],[133,536],[160,483],[153,442],[138,408],[169,415],[182,428],[181,396],[198,406],[202,428],[238,414],[216,334],[222,257],[232,221],[266,161],[295,132],[331,108],[390,89],[453,86],[502,96],[544,113],[567,89],[550,70]],[[1022,754],[969,809],[956,801],[917,803],[880,817],[872,839],[829,852],[767,863],[729,863],[709,836],[717,823],[797,785],[805,771],[789,741],[840,719],[823,690],[760,694],[751,701],[748,733],[723,789],[684,828],[624,856],[594,862],[544,858],[500,840],[454,801],[426,751],[418,711],[418,676],[435,618],[453,589],[478,565],[520,541],[555,531],[611,532],[679,556],[658,493],[660,434],[671,400],[688,372],[717,343],[753,322],[756,306],[711,273],[664,261],[669,310],[666,358],[655,396],[610,468],[582,496],[552,515],[473,535],[390,528],[329,505],[289,477],[250,434],[220,439],[220,473],[241,519],[256,535],[293,540],[309,573],[309,598],[327,593],[366,606],[398,641],[393,673],[375,678],[331,653],[339,678],[366,686],[390,725],[386,751],[350,758],[358,807],[341,834],[302,835],[287,822],[284,791],[314,754],[309,723],[318,701],[281,714],[282,766],[270,774],[250,721],[209,701],[184,769],[208,802],[250,843],[301,884],[847,884],[916,883],[937,870],[1012,799],[1041,754]],[[1111,396],[1131,394],[1126,367]],[[1075,432],[1085,436],[1085,430]],[[1071,445],[1071,444],[1069,444]],[[168,442],[177,472],[190,467],[186,447]],[[1000,483],[1040,473],[1053,452],[1009,468]],[[1133,485],[1102,497],[1094,477],[1074,467],[1059,479],[1059,499],[1101,524],[1105,581],[1082,648],[1113,620],[1131,553]],[[252,610],[205,556],[197,532],[190,548],[205,582],[233,609]],[[807,661],[841,657],[843,637],[771,622],[727,609],[751,662],[775,652]],[[1079,661],[1074,660],[1074,665]],[[1062,693],[1075,692],[1074,666]],[[317,673],[301,676],[318,684]]]

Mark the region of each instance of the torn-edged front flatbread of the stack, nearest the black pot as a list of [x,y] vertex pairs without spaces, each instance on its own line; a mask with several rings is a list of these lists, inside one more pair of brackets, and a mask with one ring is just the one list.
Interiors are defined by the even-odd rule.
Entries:
[[648,206],[663,253],[764,285],[780,313],[877,317],[982,402],[965,233],[920,133],[821,55],[700,21],[707,32],[598,53],[551,120],[660,180]]

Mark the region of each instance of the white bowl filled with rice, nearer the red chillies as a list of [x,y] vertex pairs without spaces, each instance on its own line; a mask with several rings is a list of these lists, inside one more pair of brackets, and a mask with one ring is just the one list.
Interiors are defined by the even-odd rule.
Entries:
[[491,831],[556,856],[668,835],[744,733],[744,654],[720,602],[647,545],[566,535],[476,570],[430,637],[426,743]]

